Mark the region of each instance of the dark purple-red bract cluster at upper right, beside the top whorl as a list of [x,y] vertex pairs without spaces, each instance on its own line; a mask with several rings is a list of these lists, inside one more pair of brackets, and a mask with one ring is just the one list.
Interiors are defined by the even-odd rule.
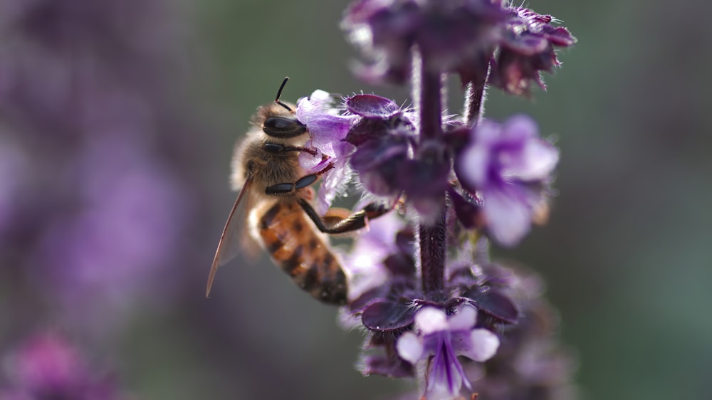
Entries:
[[539,71],[551,73],[560,64],[554,48],[576,42],[566,28],[552,26],[553,21],[552,16],[530,9],[511,9],[499,56],[493,63],[493,85],[515,95],[527,95],[532,82],[545,89]]

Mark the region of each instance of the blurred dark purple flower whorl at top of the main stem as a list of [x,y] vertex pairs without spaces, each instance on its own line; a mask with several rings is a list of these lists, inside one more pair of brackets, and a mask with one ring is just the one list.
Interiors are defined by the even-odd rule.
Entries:
[[506,19],[488,0],[361,0],[347,11],[342,27],[375,63],[360,75],[371,81],[403,83],[417,46],[431,70],[456,71],[481,63]]

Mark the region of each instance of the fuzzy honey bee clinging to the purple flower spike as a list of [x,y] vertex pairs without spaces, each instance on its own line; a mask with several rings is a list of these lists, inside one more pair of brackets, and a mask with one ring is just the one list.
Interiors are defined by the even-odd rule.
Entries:
[[[283,80],[273,103],[258,108],[252,129],[235,148],[231,183],[239,194],[218,243],[206,297],[217,268],[235,258],[240,245],[251,246],[251,238],[313,298],[345,304],[346,273],[331,251],[326,234],[363,228],[368,219],[388,211],[387,207],[370,204],[355,214],[330,209],[321,217],[313,209],[310,200],[314,191],[310,185],[333,165],[328,164],[315,174],[306,174],[300,167],[300,152],[314,156],[317,152],[304,147],[309,132],[295,117],[293,105],[279,100],[287,80]],[[243,211],[245,215],[239,215]]]

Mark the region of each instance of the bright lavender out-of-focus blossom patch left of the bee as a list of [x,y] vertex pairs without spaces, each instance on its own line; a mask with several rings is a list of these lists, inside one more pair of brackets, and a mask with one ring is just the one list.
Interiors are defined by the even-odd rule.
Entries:
[[188,205],[167,166],[141,147],[127,136],[98,136],[75,164],[80,207],[48,227],[42,247],[53,268],[48,284],[69,310],[91,315],[171,287],[159,277],[175,259]]

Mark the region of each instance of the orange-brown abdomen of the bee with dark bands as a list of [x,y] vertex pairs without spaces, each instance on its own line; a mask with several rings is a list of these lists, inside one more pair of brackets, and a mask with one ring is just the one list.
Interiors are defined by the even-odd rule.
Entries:
[[274,204],[259,219],[258,231],[274,262],[300,288],[323,302],[346,302],[346,275],[298,204]]

